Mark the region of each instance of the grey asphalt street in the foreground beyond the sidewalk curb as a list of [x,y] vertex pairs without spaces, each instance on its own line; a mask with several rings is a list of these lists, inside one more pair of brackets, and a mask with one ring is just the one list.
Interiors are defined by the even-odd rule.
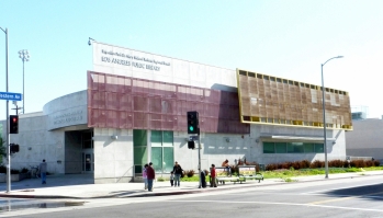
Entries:
[[362,176],[178,196],[91,199],[82,200],[83,206],[11,210],[0,213],[0,217],[383,217],[382,179]]

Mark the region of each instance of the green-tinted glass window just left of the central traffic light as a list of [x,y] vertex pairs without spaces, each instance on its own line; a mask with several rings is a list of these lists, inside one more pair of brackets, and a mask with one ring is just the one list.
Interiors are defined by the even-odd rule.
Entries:
[[173,169],[173,133],[151,130],[151,162],[156,172],[170,173]]

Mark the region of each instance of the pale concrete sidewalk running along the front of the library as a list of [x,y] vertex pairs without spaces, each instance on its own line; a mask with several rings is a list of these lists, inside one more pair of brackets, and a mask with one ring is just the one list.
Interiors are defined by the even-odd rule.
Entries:
[[[329,174],[327,180],[360,177],[368,175],[383,175],[383,171],[365,171],[359,173]],[[11,198],[113,198],[113,197],[148,197],[164,195],[182,195],[192,193],[216,192],[232,188],[246,188],[264,185],[279,185],[285,182],[282,179],[266,179],[260,183],[249,181],[246,183],[226,183],[218,187],[199,188],[198,182],[181,182],[180,187],[171,187],[169,181],[156,182],[154,192],[144,190],[143,183],[112,183],[92,184],[91,174],[66,174],[47,177],[47,184],[42,185],[38,179],[23,180],[11,183],[11,192],[7,193],[7,184],[0,183],[0,197]],[[324,181],[325,175],[291,177],[296,182]]]

